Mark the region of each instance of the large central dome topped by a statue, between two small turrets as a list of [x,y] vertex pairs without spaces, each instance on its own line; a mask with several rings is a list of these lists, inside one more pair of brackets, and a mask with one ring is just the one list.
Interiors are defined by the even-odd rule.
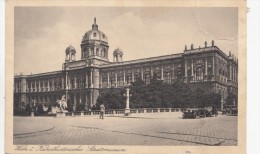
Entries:
[[94,19],[94,24],[92,25],[92,29],[85,33],[81,43],[84,44],[90,41],[100,41],[105,44],[108,43],[107,36],[100,30],[98,30],[98,25],[96,24],[96,18]]

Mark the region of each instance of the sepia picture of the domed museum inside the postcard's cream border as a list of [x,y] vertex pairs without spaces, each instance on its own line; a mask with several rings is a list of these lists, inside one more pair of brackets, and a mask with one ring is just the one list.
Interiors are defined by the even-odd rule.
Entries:
[[245,114],[239,111],[245,102],[239,100],[238,7],[13,11],[16,151],[245,142],[238,137]]

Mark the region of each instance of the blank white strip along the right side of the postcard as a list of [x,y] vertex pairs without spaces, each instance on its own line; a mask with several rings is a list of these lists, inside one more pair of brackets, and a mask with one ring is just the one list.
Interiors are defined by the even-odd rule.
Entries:
[[247,153],[260,153],[260,1],[248,0],[247,13]]

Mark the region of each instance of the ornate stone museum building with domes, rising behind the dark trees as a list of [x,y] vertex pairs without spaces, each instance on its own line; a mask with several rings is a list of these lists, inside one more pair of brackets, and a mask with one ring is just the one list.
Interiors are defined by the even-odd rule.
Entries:
[[66,95],[68,104],[82,101],[91,107],[101,89],[124,87],[138,78],[149,84],[154,75],[166,84],[181,80],[192,89],[220,93],[222,104],[228,93],[238,91],[238,60],[230,52],[226,55],[214,41],[210,45],[205,42],[199,48],[191,44],[188,49],[185,45],[184,51],[178,54],[131,61],[123,61],[123,51],[117,48],[110,62],[107,36],[98,29],[95,19],[80,46],[80,60],[75,58],[74,47],[66,48],[66,58],[59,71],[15,75],[15,106],[56,102]]

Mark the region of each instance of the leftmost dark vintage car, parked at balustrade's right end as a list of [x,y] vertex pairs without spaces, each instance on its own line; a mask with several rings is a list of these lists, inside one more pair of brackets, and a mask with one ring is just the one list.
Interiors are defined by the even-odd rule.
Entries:
[[206,110],[204,108],[188,108],[185,111],[183,111],[182,117],[183,119],[196,119],[197,117],[206,117]]

